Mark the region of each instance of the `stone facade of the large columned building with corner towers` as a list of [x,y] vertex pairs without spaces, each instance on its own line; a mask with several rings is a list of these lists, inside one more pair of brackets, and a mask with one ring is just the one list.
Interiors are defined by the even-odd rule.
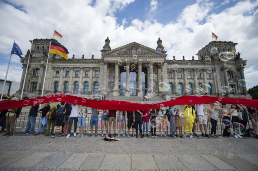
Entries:
[[[49,43],[50,39],[33,40],[24,89],[27,93],[41,94]],[[155,50],[132,42],[111,50],[107,37],[101,50],[101,59],[94,59],[93,55],[90,58],[84,55],[82,58],[75,58],[73,55],[71,59],[65,60],[58,55],[49,54],[44,94],[77,91],[85,96],[107,94],[140,97],[152,87],[154,96],[170,100],[181,95],[194,95],[204,84],[208,85],[206,95],[250,98],[246,87],[238,83],[239,79],[244,79],[244,66],[247,61],[240,58],[240,53],[235,54],[228,62],[218,58],[222,51],[236,51],[236,43],[212,41],[196,54],[198,60],[194,57],[192,60],[186,60],[184,56],[182,59],[174,57],[173,60],[168,60],[160,38],[157,45]],[[216,53],[211,51],[214,47],[217,48]],[[23,72],[17,92],[19,94],[29,52],[28,50],[25,58],[21,60]],[[207,61],[206,58],[210,60]],[[151,79],[152,74],[155,74],[156,78]],[[168,83],[170,90],[161,92],[161,82]],[[226,94],[221,94],[220,87],[224,85],[229,88]]]

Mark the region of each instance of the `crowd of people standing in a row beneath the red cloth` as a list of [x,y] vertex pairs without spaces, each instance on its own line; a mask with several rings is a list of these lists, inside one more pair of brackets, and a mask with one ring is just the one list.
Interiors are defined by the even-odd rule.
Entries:
[[[169,106],[169,109],[164,107],[158,109],[150,110],[137,110],[137,111],[116,111],[116,110],[101,110],[101,109],[91,109],[91,118],[90,118],[90,134],[88,137],[93,135],[93,129],[95,127],[95,136],[98,136],[98,126],[101,127],[101,137],[110,136],[112,134],[112,123],[113,123],[113,135],[120,137],[122,134],[123,137],[126,137],[125,132],[125,120],[127,117],[127,137],[130,135],[133,138],[144,138],[144,137],[157,137],[156,135],[156,125],[151,126],[151,135],[148,134],[149,122],[156,119],[156,117],[167,116],[170,122],[170,136],[171,137],[187,137],[187,128],[189,130],[189,137],[193,138],[194,136],[203,136],[210,138],[218,137],[216,134],[217,130],[217,115],[216,111],[223,114],[223,119],[228,119],[232,123],[241,123],[246,128],[248,119],[251,120],[253,124],[253,131],[255,132],[256,138],[257,135],[257,112],[256,108],[248,107],[244,108],[242,105],[233,104],[227,110],[226,104],[210,104],[210,107],[207,109],[207,115],[205,114],[205,107],[202,104],[196,105],[183,105],[183,110],[180,111],[179,108],[175,106]],[[35,131],[35,122],[38,112],[41,111],[41,118],[39,120],[38,130]],[[207,117],[206,117],[207,116]],[[16,120],[16,109],[8,109],[1,111],[0,113],[0,126],[1,131],[6,133],[3,136],[11,136],[14,132],[14,124]],[[73,136],[83,137],[84,129],[87,117],[87,107],[79,106],[76,104],[69,104],[61,102],[58,105],[50,106],[50,103],[45,103],[45,106],[42,109],[39,109],[38,105],[31,106],[29,110],[28,122],[26,130],[23,135],[38,135],[45,134],[45,136],[52,135],[55,138],[55,135],[70,137],[72,126]],[[183,125],[184,132],[182,133],[182,126],[176,125],[176,121],[180,118],[185,118],[186,123]],[[155,120],[154,120],[155,121]],[[207,121],[211,123],[211,134],[208,134],[207,131]],[[118,122],[118,132],[116,130],[116,124]],[[199,129],[201,135],[197,135],[197,123],[199,123]],[[77,132],[77,124],[79,125],[79,134]],[[51,132],[50,132],[51,127]],[[59,134],[56,134],[56,129],[59,127]],[[143,130],[142,130],[143,127]],[[159,131],[159,136],[167,138],[165,126],[157,126]],[[223,137],[230,138],[229,132],[230,125],[225,125],[223,130]],[[104,132],[105,129],[105,132]],[[131,133],[132,129],[132,133]],[[162,129],[162,130],[161,130]],[[179,130],[179,134],[178,134]],[[163,132],[162,132],[163,131]],[[136,135],[134,134],[136,133]],[[131,134],[130,134],[131,133]],[[245,136],[245,135],[243,135]],[[235,138],[242,138],[241,135],[235,134]]]

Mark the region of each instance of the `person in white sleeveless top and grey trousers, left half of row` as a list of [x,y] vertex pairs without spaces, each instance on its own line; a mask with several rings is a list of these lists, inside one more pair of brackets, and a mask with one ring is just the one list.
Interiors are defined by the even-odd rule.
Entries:
[[66,138],[70,137],[70,132],[71,132],[73,123],[74,123],[73,136],[76,137],[76,129],[77,129],[77,123],[78,123],[78,117],[79,117],[79,106],[76,104],[71,104],[71,106],[72,106],[72,111],[70,114],[68,134]]

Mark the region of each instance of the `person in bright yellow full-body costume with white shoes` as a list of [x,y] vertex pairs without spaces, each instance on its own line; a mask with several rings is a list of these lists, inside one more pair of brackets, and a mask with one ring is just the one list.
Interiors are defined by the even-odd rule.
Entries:
[[189,133],[190,133],[190,138],[193,138],[193,123],[195,120],[195,111],[192,109],[191,105],[183,105],[184,108],[184,117],[186,118],[187,124],[184,126],[184,135],[183,137],[187,137],[187,126],[189,126]]

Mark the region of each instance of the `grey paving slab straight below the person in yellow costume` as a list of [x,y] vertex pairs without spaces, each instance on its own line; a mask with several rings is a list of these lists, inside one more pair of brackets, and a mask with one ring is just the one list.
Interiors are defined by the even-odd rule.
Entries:
[[217,169],[199,155],[176,155],[177,158],[191,170],[215,170]]

